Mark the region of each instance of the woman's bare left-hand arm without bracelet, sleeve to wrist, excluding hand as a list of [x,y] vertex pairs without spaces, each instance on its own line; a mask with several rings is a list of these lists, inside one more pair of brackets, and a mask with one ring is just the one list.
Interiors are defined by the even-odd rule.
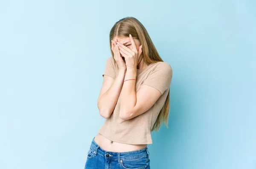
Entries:
[[102,88],[98,98],[99,114],[104,118],[109,118],[113,113],[116,102],[119,98],[120,91],[125,77],[125,70],[119,70],[116,78],[103,76]]

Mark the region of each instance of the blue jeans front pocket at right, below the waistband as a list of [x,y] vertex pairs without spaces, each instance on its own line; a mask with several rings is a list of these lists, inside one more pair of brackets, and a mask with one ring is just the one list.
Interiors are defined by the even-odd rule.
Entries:
[[147,156],[139,158],[120,160],[120,165],[124,169],[145,169],[148,166]]

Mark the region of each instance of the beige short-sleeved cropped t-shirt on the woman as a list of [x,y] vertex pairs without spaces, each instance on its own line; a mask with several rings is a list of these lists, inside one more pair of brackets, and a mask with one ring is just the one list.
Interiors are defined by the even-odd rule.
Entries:
[[[115,79],[117,71],[118,66],[111,56],[106,61],[105,71],[102,76],[108,75]],[[137,69],[136,79],[136,92],[141,85],[148,85],[159,90],[162,95],[149,110],[129,120],[119,118],[119,97],[113,113],[105,120],[104,124],[99,129],[99,134],[111,141],[124,144],[152,144],[151,128],[160,110],[163,108],[163,104],[169,92],[172,80],[171,65],[167,62],[151,63],[143,70]]]

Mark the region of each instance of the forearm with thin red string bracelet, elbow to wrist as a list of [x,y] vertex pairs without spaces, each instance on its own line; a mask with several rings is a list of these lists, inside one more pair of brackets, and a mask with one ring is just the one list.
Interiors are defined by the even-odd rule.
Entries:
[[[136,79],[137,78],[137,69],[128,68],[125,74],[125,80]],[[119,117],[122,119],[128,118],[136,105],[136,80],[125,81],[122,86],[122,93],[120,94],[120,113]]]

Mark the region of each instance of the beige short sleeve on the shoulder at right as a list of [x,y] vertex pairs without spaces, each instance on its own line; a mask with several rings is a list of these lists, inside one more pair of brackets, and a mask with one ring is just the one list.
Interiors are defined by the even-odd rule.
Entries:
[[167,62],[161,62],[148,74],[142,85],[156,88],[161,95],[169,89],[172,81],[172,67]]

